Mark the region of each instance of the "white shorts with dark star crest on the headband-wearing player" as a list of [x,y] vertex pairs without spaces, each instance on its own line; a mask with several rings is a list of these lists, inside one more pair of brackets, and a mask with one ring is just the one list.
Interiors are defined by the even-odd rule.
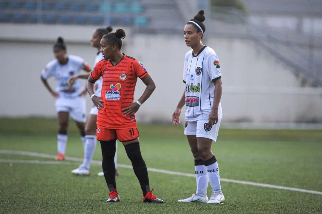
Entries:
[[196,137],[204,137],[217,140],[221,118],[217,124],[208,126],[208,120],[197,120],[193,122],[185,122],[185,135],[196,135]]

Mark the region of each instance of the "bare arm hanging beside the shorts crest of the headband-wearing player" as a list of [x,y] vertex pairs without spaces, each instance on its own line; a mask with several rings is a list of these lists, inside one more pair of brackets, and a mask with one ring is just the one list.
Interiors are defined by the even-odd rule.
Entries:
[[215,92],[213,97],[213,108],[209,114],[209,125],[214,125],[218,122],[218,106],[223,92],[223,83],[221,79],[213,80],[213,84],[215,84]]

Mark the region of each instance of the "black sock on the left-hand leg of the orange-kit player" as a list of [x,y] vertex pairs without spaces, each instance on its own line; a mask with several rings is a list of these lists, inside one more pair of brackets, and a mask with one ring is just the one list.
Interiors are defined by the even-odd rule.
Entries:
[[102,168],[104,172],[104,178],[106,184],[109,188],[109,191],[116,190],[116,181],[115,181],[115,140],[110,141],[100,141],[102,148]]

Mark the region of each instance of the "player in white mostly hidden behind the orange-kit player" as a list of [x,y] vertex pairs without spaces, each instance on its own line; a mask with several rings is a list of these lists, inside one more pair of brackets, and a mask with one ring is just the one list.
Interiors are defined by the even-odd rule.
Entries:
[[[103,35],[108,34],[112,31],[112,28],[109,26],[107,28],[98,28],[94,31],[93,37],[90,40],[91,45],[94,48],[97,48],[98,52],[95,57],[94,66],[96,63],[98,63],[100,60],[103,60],[104,57],[101,52],[99,52],[101,45],[100,40],[102,39]],[[77,74],[72,76],[68,83],[71,85],[73,82],[78,78],[88,79],[90,74]],[[101,90],[102,90],[102,77],[99,78],[95,82],[95,94],[100,97],[101,96]],[[95,148],[96,148],[96,117],[97,117],[98,109],[93,106],[90,109],[90,116],[88,118],[88,121],[86,123],[85,127],[85,147],[84,147],[84,160],[83,163],[77,168],[71,171],[71,173],[75,175],[90,175],[90,162],[92,160]],[[116,143],[116,152],[114,157],[114,163],[116,168],[116,175],[118,175],[118,169],[117,169],[117,148],[118,144]],[[98,175],[104,176],[103,172],[99,172]]]

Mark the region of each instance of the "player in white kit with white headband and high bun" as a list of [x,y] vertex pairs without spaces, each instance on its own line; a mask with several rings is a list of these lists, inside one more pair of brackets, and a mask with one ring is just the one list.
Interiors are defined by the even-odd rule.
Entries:
[[[184,28],[185,43],[192,50],[185,55],[183,81],[186,88],[172,115],[172,122],[180,124],[181,108],[186,105],[185,135],[194,156],[197,191],[179,202],[218,204],[225,198],[211,144],[217,140],[223,117],[220,103],[223,87],[218,56],[202,43],[206,30],[204,20],[204,11],[201,10]],[[210,200],[207,197],[208,181],[213,189]]]

